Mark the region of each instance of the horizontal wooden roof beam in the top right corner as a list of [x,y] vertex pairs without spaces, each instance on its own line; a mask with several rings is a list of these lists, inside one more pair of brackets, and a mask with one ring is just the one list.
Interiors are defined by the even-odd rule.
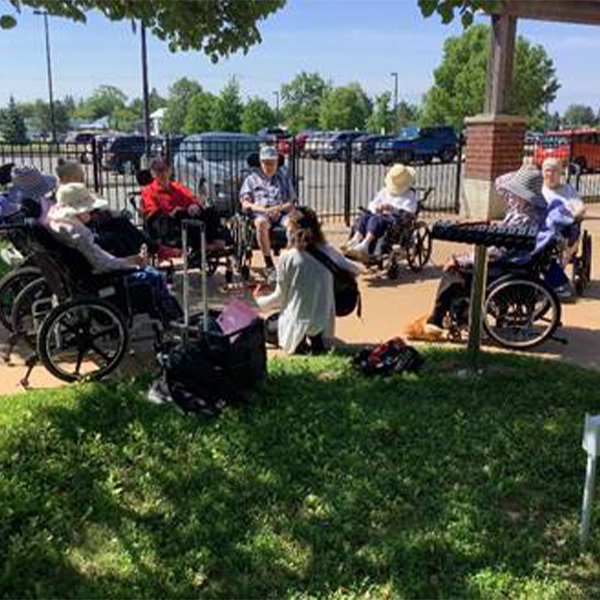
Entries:
[[504,0],[499,14],[519,19],[600,25],[600,0]]

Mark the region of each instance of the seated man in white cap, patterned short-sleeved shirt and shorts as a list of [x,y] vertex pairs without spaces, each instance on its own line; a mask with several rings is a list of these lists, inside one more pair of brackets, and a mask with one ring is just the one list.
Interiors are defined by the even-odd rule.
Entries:
[[267,280],[276,281],[271,249],[271,229],[284,225],[286,215],[296,203],[296,191],[288,174],[279,168],[279,154],[273,146],[265,145],[259,153],[260,169],[250,173],[240,189],[242,208],[254,220],[258,246],[263,254]]

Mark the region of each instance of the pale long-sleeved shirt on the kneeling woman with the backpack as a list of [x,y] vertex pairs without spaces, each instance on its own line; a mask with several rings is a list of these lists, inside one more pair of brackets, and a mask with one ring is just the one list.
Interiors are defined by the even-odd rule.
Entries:
[[[358,275],[360,267],[345,259],[328,244],[319,246],[341,268]],[[281,254],[277,288],[256,299],[261,308],[279,304],[279,345],[294,352],[308,335],[332,339],[335,331],[335,298],[331,271],[308,252],[295,248]]]

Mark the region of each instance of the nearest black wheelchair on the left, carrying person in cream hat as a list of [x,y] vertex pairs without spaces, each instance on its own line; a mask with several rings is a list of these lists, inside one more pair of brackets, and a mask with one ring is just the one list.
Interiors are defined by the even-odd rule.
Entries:
[[134,271],[91,274],[87,260],[35,222],[2,225],[24,232],[41,274],[17,294],[8,356],[19,341],[33,349],[26,360],[27,387],[36,364],[66,382],[100,379],[114,371],[127,353],[134,318],[149,316],[158,337],[160,308]]

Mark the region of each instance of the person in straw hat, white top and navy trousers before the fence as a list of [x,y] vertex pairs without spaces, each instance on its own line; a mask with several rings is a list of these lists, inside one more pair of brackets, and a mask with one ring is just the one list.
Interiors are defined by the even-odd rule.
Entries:
[[394,165],[385,176],[385,186],[356,220],[351,238],[343,250],[351,258],[365,264],[372,255],[378,254],[378,242],[393,225],[406,227],[414,220],[418,200],[412,186],[415,170],[412,167]]

